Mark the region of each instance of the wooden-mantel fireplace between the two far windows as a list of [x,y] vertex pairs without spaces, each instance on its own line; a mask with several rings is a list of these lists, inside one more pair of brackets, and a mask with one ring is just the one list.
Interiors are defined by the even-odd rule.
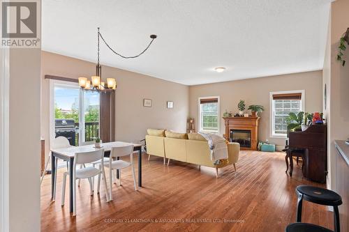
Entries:
[[224,137],[240,144],[242,150],[257,150],[260,117],[228,117]]

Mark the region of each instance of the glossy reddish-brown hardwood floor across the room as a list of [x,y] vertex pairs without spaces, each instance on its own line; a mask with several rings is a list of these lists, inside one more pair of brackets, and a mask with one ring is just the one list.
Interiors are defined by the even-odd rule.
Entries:
[[[284,157],[284,153],[241,151],[237,171],[230,165],[220,169],[217,179],[212,168],[199,170],[193,164],[172,160],[166,166],[163,158],[152,156],[148,161],[144,155],[144,187],[135,192],[131,171],[122,171],[122,186],[114,184],[114,200],[106,203],[103,186],[101,196],[89,196],[89,183],[82,180],[77,188],[76,217],[70,216],[68,194],[66,206],[61,207],[61,180],[66,169],[60,169],[55,202],[50,201],[50,175],[43,180],[41,230],[284,231],[287,224],[295,222],[295,187],[325,187],[303,179],[296,164],[290,178],[285,174]],[[302,215],[302,222],[333,229],[333,214],[325,206],[305,201]]]

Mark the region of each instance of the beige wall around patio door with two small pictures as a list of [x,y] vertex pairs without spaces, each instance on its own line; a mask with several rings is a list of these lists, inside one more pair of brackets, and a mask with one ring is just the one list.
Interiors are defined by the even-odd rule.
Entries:
[[[117,59],[117,58],[116,58]],[[50,143],[50,84],[44,75],[61,77],[90,77],[94,75],[95,63],[73,59],[49,52],[42,52],[41,64],[41,135]],[[156,79],[147,75],[103,66],[103,79],[117,79],[116,91],[116,139],[139,141],[146,130],[166,128],[186,131],[189,88],[182,84]],[[153,100],[153,107],[143,107],[143,98]],[[167,109],[166,101],[173,101],[174,108]]]

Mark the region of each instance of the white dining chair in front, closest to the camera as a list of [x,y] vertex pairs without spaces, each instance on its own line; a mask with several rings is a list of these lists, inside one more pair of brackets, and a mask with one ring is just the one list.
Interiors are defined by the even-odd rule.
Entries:
[[[109,201],[108,191],[107,191],[107,181],[105,180],[105,171],[104,171],[104,149],[100,150],[93,150],[88,152],[82,152],[82,153],[75,153],[74,156],[74,163],[73,163],[73,216],[76,215],[76,180],[79,179],[89,179],[90,183],[90,190],[92,187],[91,179],[94,178],[94,176],[101,176],[103,175],[103,182],[105,186],[105,196],[107,198],[107,202]],[[99,166],[99,169],[96,169],[96,167],[82,167],[81,169],[76,169],[77,164],[87,164],[92,163],[100,160],[101,164]],[[61,205],[64,206],[64,198],[66,194],[66,177],[69,175],[69,172],[64,173],[63,178],[63,186],[62,186],[62,203]],[[92,192],[92,190],[91,190]],[[98,192],[99,193],[99,187]]]

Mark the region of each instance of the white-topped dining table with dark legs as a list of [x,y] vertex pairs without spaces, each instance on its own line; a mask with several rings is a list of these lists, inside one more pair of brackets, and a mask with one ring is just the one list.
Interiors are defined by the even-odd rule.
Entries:
[[[75,153],[83,153],[98,149],[104,149],[104,157],[109,157],[110,150],[112,147],[122,147],[122,146],[130,146],[133,145],[134,151],[139,151],[138,155],[138,186],[142,187],[142,145],[141,144],[132,144],[132,143],[126,143],[123,141],[113,141],[110,143],[103,143],[101,144],[101,148],[95,148],[94,144],[90,145],[84,145],[84,146],[70,146],[68,148],[57,148],[57,149],[51,149],[52,155],[51,155],[51,165],[52,165],[52,182],[51,182],[51,197],[53,199],[53,196],[55,194],[55,183],[57,178],[57,158],[61,160],[65,160],[69,164],[69,208],[70,212],[73,212],[73,173],[71,171],[73,170],[73,162]],[[119,160],[119,157],[117,157]],[[117,178],[119,178],[119,171],[117,171]]]

